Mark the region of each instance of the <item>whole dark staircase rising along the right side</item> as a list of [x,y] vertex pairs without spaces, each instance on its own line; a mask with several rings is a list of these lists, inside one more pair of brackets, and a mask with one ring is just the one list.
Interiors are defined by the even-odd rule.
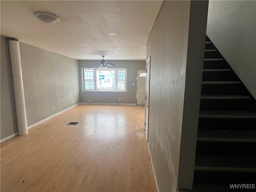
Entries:
[[208,37],[193,189],[181,191],[256,191],[256,101]]

